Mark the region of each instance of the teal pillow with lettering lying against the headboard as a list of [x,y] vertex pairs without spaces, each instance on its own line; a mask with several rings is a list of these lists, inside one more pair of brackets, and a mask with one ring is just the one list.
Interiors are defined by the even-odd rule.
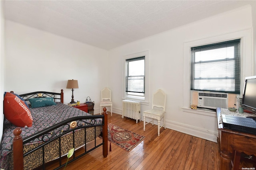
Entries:
[[28,99],[28,101],[31,104],[31,108],[56,105],[53,98],[32,98]]

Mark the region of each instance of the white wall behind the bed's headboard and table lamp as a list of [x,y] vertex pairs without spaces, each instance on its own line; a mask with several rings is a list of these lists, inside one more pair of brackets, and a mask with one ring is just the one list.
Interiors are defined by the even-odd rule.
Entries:
[[108,51],[6,20],[5,91],[60,92],[71,101],[68,79],[78,80],[74,100],[90,96],[99,111],[100,90],[108,84]]

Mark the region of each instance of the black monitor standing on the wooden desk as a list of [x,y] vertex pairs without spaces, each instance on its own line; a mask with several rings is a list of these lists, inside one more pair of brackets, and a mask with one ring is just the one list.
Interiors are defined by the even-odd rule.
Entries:
[[242,107],[256,113],[256,76],[246,78]]

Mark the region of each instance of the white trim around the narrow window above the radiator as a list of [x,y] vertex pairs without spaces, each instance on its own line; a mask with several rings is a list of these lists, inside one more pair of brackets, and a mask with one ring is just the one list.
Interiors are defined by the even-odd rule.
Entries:
[[[145,99],[140,100],[138,98],[127,98],[126,97],[126,60],[127,59],[133,59],[133,58],[138,58],[138,57],[144,57],[145,56],[145,80],[144,80],[144,88],[145,88]],[[148,104],[149,103],[149,51],[142,51],[139,53],[133,53],[130,55],[124,55],[122,57],[122,65],[123,65],[123,76],[122,76],[122,99],[130,99],[130,100],[136,100],[140,101],[142,103]]]

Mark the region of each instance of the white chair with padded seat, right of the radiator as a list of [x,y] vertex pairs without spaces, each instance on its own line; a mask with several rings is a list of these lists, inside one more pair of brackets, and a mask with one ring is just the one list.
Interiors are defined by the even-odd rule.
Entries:
[[[154,125],[154,119],[157,119],[158,121],[158,136],[160,135],[160,128],[164,126],[165,127],[165,105],[166,105],[166,94],[163,90],[158,89],[153,94],[152,99],[152,109],[143,111],[143,118],[144,118],[144,125],[143,129],[145,131],[145,125],[152,122],[152,125]],[[146,123],[146,117],[152,118],[152,121]],[[160,121],[164,119],[164,124],[160,126]]]

